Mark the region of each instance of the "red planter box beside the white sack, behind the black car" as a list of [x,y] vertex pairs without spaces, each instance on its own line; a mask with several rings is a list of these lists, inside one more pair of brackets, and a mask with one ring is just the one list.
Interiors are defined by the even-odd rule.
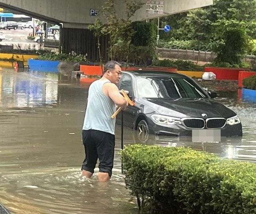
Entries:
[[205,72],[215,73],[216,79],[238,80],[239,71],[241,71],[241,69],[216,68],[216,67],[206,67],[205,68]]

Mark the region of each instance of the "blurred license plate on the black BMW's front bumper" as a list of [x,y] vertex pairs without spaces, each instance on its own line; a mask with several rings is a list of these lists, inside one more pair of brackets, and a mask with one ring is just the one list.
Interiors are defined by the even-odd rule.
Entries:
[[220,129],[193,129],[193,142],[219,143],[221,141]]

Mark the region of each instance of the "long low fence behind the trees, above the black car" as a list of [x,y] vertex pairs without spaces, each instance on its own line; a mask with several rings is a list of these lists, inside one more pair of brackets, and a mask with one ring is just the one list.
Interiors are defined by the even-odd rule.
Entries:
[[[212,62],[216,58],[216,54],[207,51],[194,51],[194,50],[182,50],[182,49],[168,49],[168,48],[156,48],[161,58],[175,58],[178,60],[195,60],[201,62]],[[249,62],[256,56],[245,55],[245,60]]]

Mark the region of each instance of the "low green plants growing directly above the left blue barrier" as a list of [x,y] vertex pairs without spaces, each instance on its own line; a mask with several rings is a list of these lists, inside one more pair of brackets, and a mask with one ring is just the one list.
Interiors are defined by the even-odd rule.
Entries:
[[82,54],[76,54],[74,52],[70,54],[64,54],[64,53],[45,53],[42,55],[39,55],[38,60],[51,60],[51,61],[68,61],[68,62],[87,62],[86,55]]

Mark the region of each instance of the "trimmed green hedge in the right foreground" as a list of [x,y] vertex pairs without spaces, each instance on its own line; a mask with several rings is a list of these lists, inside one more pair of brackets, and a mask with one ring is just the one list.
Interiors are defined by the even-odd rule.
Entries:
[[256,214],[256,165],[184,147],[132,145],[126,187],[150,212]]

